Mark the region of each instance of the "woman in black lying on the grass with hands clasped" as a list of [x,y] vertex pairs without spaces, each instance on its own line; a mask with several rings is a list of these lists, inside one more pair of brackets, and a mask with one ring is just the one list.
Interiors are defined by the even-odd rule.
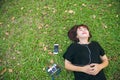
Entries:
[[73,43],[63,55],[65,68],[74,72],[75,80],[106,80],[103,69],[108,66],[108,58],[98,42],[92,37],[88,26],[75,25],[68,37]]

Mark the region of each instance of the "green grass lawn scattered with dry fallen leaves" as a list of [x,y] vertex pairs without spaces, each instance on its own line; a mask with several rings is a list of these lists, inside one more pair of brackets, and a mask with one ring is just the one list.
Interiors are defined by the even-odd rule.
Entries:
[[[87,24],[109,57],[108,80],[120,79],[119,0],[0,0],[0,66],[4,80],[51,80],[45,68],[61,66],[57,80],[73,80],[62,55],[71,43],[68,30]],[[50,55],[59,44],[58,55]]]

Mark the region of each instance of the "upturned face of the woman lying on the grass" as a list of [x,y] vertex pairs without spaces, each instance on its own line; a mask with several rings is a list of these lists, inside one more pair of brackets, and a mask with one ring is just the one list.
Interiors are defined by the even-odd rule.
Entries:
[[86,27],[81,26],[77,29],[77,38],[89,38],[89,31]]

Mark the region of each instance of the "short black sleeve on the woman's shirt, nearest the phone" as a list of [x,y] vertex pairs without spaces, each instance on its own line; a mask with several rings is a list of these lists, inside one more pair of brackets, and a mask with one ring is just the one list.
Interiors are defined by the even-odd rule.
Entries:
[[66,52],[64,53],[63,55],[63,58],[64,59],[67,59],[68,61],[72,62],[72,59],[73,59],[73,54],[74,54],[74,44],[71,44]]

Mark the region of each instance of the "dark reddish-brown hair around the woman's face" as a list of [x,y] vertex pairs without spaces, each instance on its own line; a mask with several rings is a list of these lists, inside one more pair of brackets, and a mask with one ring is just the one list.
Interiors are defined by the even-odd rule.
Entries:
[[[87,25],[81,24],[81,25],[74,25],[69,31],[68,31],[68,37],[70,38],[70,40],[74,41],[74,42],[79,42],[79,39],[76,37],[77,36],[77,29],[80,27],[84,27],[89,31],[89,28]],[[89,31],[89,35],[90,37],[88,38],[88,40],[90,40],[90,38],[92,37],[90,31]]]

